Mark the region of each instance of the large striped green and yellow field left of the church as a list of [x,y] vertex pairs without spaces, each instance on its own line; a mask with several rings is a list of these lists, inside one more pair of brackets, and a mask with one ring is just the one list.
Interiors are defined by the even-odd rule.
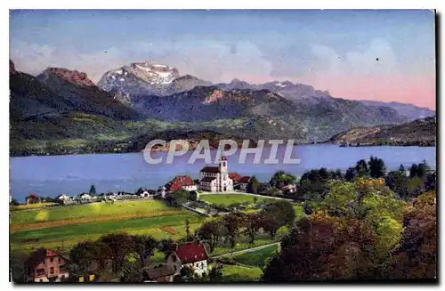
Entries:
[[[190,221],[190,231],[204,221],[197,214],[157,200],[16,210],[11,211],[10,242],[12,250],[61,247],[66,251],[80,241],[118,231],[178,239],[186,235],[186,219]],[[161,229],[165,227],[169,229]]]

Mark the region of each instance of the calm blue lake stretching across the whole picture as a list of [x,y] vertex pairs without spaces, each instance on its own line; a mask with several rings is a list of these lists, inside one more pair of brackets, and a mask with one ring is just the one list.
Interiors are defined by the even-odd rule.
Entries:
[[[262,160],[269,157],[269,150],[263,150]],[[279,148],[279,160],[282,160],[284,151],[284,147]],[[147,163],[142,153],[11,158],[11,195],[20,201],[24,201],[29,193],[39,196],[56,196],[61,193],[77,196],[81,192],[87,192],[92,184],[97,192],[133,192],[140,187],[158,189],[158,186],[166,184],[175,175],[189,174],[194,179],[198,178],[199,170],[205,163],[200,159],[194,164],[187,164],[191,153],[190,151],[182,157],[175,157],[173,164],[158,165]],[[158,152],[153,153],[152,157],[165,156],[166,152]],[[230,172],[255,175],[258,180],[266,182],[278,170],[297,176],[320,167],[345,171],[361,158],[368,160],[370,156],[382,158],[389,170],[398,169],[401,164],[409,169],[413,163],[424,159],[430,166],[436,167],[434,147],[341,148],[326,144],[298,145],[294,147],[292,155],[292,158],[301,159],[298,165],[254,164],[253,155],[247,155],[246,164],[239,164],[239,152],[227,159]]]

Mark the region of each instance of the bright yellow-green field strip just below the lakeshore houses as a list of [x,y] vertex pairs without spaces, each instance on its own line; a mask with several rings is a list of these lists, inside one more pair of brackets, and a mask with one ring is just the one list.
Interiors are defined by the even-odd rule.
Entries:
[[86,217],[99,217],[125,214],[155,214],[174,208],[166,206],[157,200],[132,200],[116,203],[91,203],[75,206],[61,206],[51,209],[36,209],[29,211],[12,211],[11,224],[52,222]]

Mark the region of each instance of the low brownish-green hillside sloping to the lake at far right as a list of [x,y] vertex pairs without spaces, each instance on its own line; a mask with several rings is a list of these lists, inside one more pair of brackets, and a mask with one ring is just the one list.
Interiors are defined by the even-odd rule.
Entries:
[[334,135],[327,142],[370,145],[433,146],[436,141],[436,117],[417,119],[402,125],[377,125],[353,128]]

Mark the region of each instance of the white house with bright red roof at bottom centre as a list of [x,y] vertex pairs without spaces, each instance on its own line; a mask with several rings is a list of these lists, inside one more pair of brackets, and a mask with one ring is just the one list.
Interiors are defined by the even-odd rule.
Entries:
[[190,267],[198,276],[207,272],[207,251],[200,242],[194,241],[176,246],[175,250],[166,256],[166,264],[174,267],[175,275],[182,267]]

